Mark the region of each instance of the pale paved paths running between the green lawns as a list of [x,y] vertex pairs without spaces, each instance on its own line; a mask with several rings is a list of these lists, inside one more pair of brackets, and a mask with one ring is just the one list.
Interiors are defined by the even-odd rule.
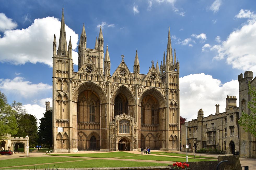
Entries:
[[[139,154],[141,152],[138,151],[123,151],[123,152],[128,152],[128,153],[134,153],[134,154]],[[158,152],[158,151],[152,151],[152,152]],[[100,151],[79,151],[78,153],[104,153]],[[109,152],[108,152],[109,153]],[[177,152],[181,154],[186,154],[185,152]],[[65,153],[65,154],[72,154],[72,153]],[[156,155],[156,156],[169,156],[169,155],[159,155],[159,154],[151,154],[151,155]],[[188,155],[194,155],[194,153],[188,153]],[[196,156],[199,156],[199,153],[195,153]],[[20,156],[26,156],[26,154],[13,154],[13,155],[1,155],[0,160],[5,160],[5,159],[13,159],[13,158],[24,158]],[[29,154],[29,156],[50,156],[50,155],[44,155],[44,153],[38,153],[38,152],[32,152]],[[145,155],[147,156],[147,155]],[[208,157],[213,157],[213,158],[218,158],[218,154],[203,154],[201,153],[201,156],[208,156]],[[225,156],[225,155],[221,155]],[[123,161],[135,161],[135,162],[156,162],[156,163],[164,163],[164,164],[173,164],[174,162],[171,161],[154,161],[154,160],[135,160],[135,159],[118,159],[118,158],[86,158],[86,157],[74,157],[74,156],[57,156],[57,157],[67,157],[67,158],[84,158],[84,159],[107,159],[107,160],[123,160]],[[169,156],[169,157],[178,157],[178,156]],[[191,158],[190,158],[191,159]],[[78,161],[78,160],[77,160]],[[81,161],[81,160],[79,160]],[[72,162],[72,161],[66,161],[66,162]],[[63,163],[63,162],[53,162],[53,163],[46,163],[46,164],[56,164],[56,163]],[[253,158],[240,158],[240,163],[241,166],[249,166],[249,170],[254,170],[256,169],[256,159]],[[41,165],[41,164],[37,164]],[[24,165],[22,165],[24,166]],[[29,165],[30,166],[30,165]],[[33,166],[33,165],[32,165]],[[15,167],[21,167],[21,166],[15,166]]]

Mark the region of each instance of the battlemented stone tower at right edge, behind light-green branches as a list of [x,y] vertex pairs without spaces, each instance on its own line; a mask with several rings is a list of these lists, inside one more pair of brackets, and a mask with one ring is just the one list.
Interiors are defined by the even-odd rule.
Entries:
[[[252,100],[252,97],[248,95],[249,91],[249,82],[251,86],[256,87],[256,77],[253,78],[252,71],[245,71],[244,77],[241,73],[238,75],[239,82],[239,116],[242,115],[242,112],[247,114],[253,114],[250,109],[248,109],[248,101]],[[245,132],[245,130],[241,127],[240,129],[240,156],[256,158],[256,136],[253,136],[249,132]]]

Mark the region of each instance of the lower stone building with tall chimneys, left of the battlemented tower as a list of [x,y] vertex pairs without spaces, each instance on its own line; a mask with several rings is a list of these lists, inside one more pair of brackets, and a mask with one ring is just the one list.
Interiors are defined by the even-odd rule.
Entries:
[[[239,151],[239,107],[236,106],[236,96],[227,96],[226,111],[219,113],[216,104],[214,115],[203,117],[203,109],[197,112],[197,119],[188,123],[188,152],[197,149],[217,149],[227,154]],[[182,151],[186,151],[186,127],[181,126]]]

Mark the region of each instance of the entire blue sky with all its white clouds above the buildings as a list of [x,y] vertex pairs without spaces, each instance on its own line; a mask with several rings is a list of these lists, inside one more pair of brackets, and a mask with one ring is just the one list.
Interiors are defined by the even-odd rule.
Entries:
[[111,74],[122,54],[132,72],[136,49],[141,73],[151,60],[160,65],[170,27],[180,62],[180,115],[189,120],[201,108],[215,114],[216,103],[225,112],[225,96],[238,98],[238,74],[256,74],[256,1],[1,1],[0,90],[38,119],[52,97],[52,42],[54,34],[59,40],[62,6],[74,63],[83,23],[88,48],[102,26]]

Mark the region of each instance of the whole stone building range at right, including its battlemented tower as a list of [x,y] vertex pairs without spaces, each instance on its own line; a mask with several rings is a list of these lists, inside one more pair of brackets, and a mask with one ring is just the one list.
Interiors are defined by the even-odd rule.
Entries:
[[[215,115],[203,117],[203,110],[197,112],[197,119],[188,123],[189,152],[197,149],[217,149],[227,154],[239,151],[241,157],[256,158],[256,138],[249,132],[245,132],[239,126],[238,120],[242,112],[252,114],[248,109],[248,101],[252,97],[248,95],[248,84],[256,87],[256,77],[253,79],[252,71],[245,71],[238,75],[239,82],[239,106],[236,106],[236,97],[227,96],[226,112],[219,113],[219,105],[216,104]],[[181,127],[182,151],[186,151],[186,127]]]

